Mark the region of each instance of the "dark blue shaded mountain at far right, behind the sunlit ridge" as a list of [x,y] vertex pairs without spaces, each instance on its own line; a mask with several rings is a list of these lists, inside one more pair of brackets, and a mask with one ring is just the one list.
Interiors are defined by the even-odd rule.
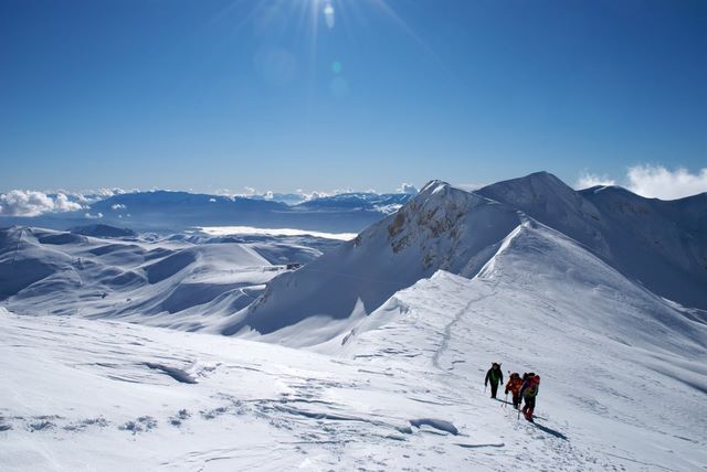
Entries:
[[664,202],[618,186],[576,192],[547,172],[477,193],[570,236],[653,292],[707,309],[707,193]]

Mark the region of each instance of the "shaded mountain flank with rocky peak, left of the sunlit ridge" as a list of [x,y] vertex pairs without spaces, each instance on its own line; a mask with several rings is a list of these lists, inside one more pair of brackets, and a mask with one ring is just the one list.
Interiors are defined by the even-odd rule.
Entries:
[[[274,337],[288,345],[327,341],[439,269],[473,276],[518,224],[513,208],[432,182],[355,240],[274,279],[261,299],[219,332],[270,334],[287,329]],[[479,227],[483,230],[476,230]],[[304,324],[293,328],[298,323]],[[313,339],[317,326],[321,336]]]

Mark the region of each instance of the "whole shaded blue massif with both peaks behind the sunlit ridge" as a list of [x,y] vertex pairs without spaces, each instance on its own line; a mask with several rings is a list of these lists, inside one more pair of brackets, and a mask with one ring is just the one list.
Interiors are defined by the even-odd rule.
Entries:
[[[398,290],[440,269],[474,277],[504,238],[526,222],[568,236],[577,251],[589,250],[627,283],[686,307],[707,308],[707,204],[699,205],[707,196],[651,202],[629,194],[633,195],[629,205],[625,194],[609,189],[588,196],[545,172],[477,192],[431,182],[355,240],[273,280],[263,297],[233,315],[222,332],[271,334],[287,329],[292,334],[282,335],[299,345],[313,341],[318,320],[323,330],[338,333]],[[553,261],[548,258],[545,264]],[[309,326],[306,335],[292,329],[300,322]]]

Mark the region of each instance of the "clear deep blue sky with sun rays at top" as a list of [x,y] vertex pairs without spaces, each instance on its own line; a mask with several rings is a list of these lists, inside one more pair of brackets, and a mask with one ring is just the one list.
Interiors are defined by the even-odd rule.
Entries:
[[706,162],[701,0],[0,2],[0,191]]

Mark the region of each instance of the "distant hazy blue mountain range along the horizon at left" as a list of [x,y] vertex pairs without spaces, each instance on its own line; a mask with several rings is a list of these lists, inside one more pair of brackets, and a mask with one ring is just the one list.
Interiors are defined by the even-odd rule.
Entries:
[[135,192],[99,200],[81,211],[34,217],[0,216],[0,226],[67,229],[93,219],[137,232],[158,233],[175,233],[194,226],[288,227],[355,233],[393,213],[411,196],[403,193],[342,193],[288,205],[260,197]]

